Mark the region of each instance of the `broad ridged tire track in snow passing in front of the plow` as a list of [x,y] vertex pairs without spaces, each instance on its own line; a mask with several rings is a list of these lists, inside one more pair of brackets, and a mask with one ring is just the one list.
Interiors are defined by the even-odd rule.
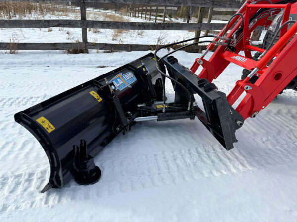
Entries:
[[[240,174],[269,166],[295,162],[297,151],[292,148],[261,148],[257,152],[248,149],[226,151],[215,148],[185,148],[162,151],[141,156],[122,156],[98,162],[102,178],[95,185],[81,186],[74,180],[60,190],[41,194],[41,185],[49,178],[49,169],[38,168],[35,172],[0,176],[0,190],[6,194],[0,200],[0,213],[18,209],[55,205],[67,201],[132,192],[151,187],[195,181],[204,177]],[[28,200],[27,197],[33,198]],[[13,203],[18,202],[15,205]]]

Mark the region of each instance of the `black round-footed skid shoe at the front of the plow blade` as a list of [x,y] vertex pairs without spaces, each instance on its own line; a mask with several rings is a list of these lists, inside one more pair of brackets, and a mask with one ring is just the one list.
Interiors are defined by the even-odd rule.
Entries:
[[[75,175],[75,181],[80,185],[95,184],[101,177],[101,170],[95,166],[92,156],[87,154],[87,145],[85,140],[81,140],[80,147],[74,146],[75,152],[78,153],[78,172]],[[78,152],[77,152],[78,151]]]

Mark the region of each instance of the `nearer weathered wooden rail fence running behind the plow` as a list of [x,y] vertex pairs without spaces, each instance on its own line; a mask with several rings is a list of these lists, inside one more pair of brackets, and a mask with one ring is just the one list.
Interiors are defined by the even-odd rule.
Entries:
[[[2,0],[2,1],[22,1],[22,0]],[[25,1],[25,0],[24,0]],[[26,0],[31,2],[47,2],[48,0]],[[51,2],[69,2],[69,0],[51,0]],[[112,50],[112,51],[147,51],[155,47],[153,45],[136,45],[136,44],[106,44],[88,42],[87,28],[99,29],[127,29],[127,30],[221,30],[225,23],[202,23],[198,15],[197,23],[155,23],[155,22],[114,22],[114,21],[97,21],[86,20],[86,2],[99,2],[99,3],[123,3],[142,4],[142,5],[160,5],[160,0],[72,0],[72,2],[80,3],[81,20],[0,20],[0,28],[49,28],[49,27],[65,27],[65,28],[81,28],[82,29],[82,42],[81,43],[17,43],[19,50],[71,50],[82,49],[84,53],[88,49],[97,50]],[[241,2],[232,0],[162,0],[162,5],[167,7],[176,7],[180,5],[195,6],[210,8],[239,8]],[[150,6],[149,6],[150,7]],[[130,8],[130,7],[129,7]],[[157,10],[156,10],[157,11]],[[166,6],[164,7],[166,11]],[[150,11],[152,12],[152,11]],[[165,13],[163,13],[165,14]],[[145,14],[145,16],[147,13]],[[0,43],[0,50],[7,50],[10,47],[9,42]],[[204,49],[205,46],[198,47]],[[198,50],[196,47],[195,50]]]

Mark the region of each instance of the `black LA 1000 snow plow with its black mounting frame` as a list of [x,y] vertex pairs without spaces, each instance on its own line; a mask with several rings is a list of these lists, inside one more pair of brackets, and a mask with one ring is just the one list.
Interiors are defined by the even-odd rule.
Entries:
[[101,171],[93,157],[138,121],[194,120],[197,116],[226,149],[233,148],[237,122],[243,118],[224,93],[205,87],[203,79],[168,58],[164,65],[169,75],[182,82],[193,98],[196,93],[201,96],[205,112],[194,99],[189,105],[175,85],[175,101],[165,104],[165,112],[163,104],[155,103],[162,100],[162,77],[153,55],[148,54],[15,114],[15,121],[36,137],[49,158],[49,183],[42,192],[62,188],[72,178],[82,185],[97,182]]

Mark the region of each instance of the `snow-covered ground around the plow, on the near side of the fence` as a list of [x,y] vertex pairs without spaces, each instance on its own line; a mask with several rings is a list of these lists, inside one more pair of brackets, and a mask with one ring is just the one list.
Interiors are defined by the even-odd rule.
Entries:
[[[1,221],[296,221],[292,90],[247,119],[230,151],[198,120],[143,122],[96,156],[103,172],[98,183],[72,180],[40,193],[49,180],[49,162],[37,140],[14,122],[14,113],[147,53],[0,52]],[[175,56],[190,67],[199,55]],[[97,68],[102,65],[107,67]],[[241,70],[230,65],[215,81],[219,90],[230,91]]]

